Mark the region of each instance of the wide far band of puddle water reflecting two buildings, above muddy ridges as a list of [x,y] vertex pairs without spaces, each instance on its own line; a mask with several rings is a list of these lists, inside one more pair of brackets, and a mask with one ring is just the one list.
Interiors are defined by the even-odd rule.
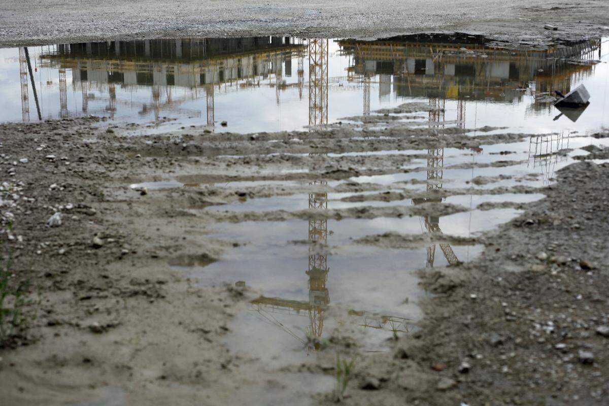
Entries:
[[[602,41],[607,38],[540,51],[505,51],[484,38],[457,34],[5,48],[0,49],[0,122],[94,114],[143,124],[134,134],[191,126],[250,133],[331,124],[403,102],[423,102],[443,108],[424,113],[436,128],[585,131],[607,124],[609,68]],[[596,60],[603,62],[595,65]],[[582,114],[560,116],[544,101],[555,89],[567,93],[580,83],[591,94]]]

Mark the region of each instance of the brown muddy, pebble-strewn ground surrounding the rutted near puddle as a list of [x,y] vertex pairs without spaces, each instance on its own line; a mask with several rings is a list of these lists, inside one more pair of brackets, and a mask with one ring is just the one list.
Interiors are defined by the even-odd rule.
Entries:
[[[446,128],[429,137],[429,128],[388,125],[368,128],[373,136],[358,139],[350,139],[354,128],[257,135],[190,128],[125,137],[130,129],[94,117],[0,127],[3,250],[12,253],[11,286],[29,281],[23,323],[0,349],[3,405],[334,404],[337,353],[355,360],[343,404],[606,404],[609,164],[589,158],[607,159],[607,150],[580,150],[581,162],[541,189],[546,198],[507,205],[525,211],[499,230],[452,240],[482,244],[484,253],[421,271],[421,284],[437,295],[421,303],[425,317],[412,334],[390,342],[390,352],[364,353],[349,337],[332,337],[308,362],[267,368],[223,342],[235,315],[258,292],[202,286],[170,266],[204,265],[230,253],[239,243],[210,237],[214,224],[446,215],[466,208],[367,207],[419,192],[384,194],[378,185],[345,181],[331,190],[352,192],[349,199],[364,207],[314,214],[202,210],[310,190],[216,182],[347,180],[393,173],[425,158],[429,148],[509,145],[527,135],[495,130],[473,137]],[[420,155],[323,155],[386,149]],[[282,154],[265,155],[270,152]],[[493,163],[512,164],[509,158]],[[302,167],[308,171],[293,170]],[[129,187],[168,179],[186,186],[146,194]],[[484,193],[538,191],[515,185]],[[48,226],[55,212],[61,224]],[[356,243],[401,248],[431,238],[381,234]]]

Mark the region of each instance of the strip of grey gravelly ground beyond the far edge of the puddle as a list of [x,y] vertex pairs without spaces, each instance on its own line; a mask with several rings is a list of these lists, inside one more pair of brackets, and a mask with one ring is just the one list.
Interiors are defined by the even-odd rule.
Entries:
[[[370,0],[292,4],[275,0],[2,0],[0,9],[2,46],[186,36],[378,38],[443,30],[538,42],[609,32],[602,29],[609,24],[605,0],[391,0],[382,6]],[[544,30],[544,24],[560,30]]]

